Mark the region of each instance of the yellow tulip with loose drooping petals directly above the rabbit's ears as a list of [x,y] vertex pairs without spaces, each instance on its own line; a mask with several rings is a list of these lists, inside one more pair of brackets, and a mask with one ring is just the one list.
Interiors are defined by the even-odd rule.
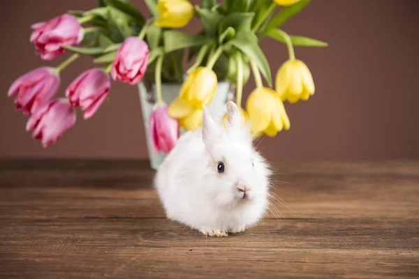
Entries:
[[203,104],[211,103],[216,91],[216,75],[213,70],[198,67],[186,77],[179,96],[169,106],[168,113],[179,120],[185,130],[198,128],[203,120]]

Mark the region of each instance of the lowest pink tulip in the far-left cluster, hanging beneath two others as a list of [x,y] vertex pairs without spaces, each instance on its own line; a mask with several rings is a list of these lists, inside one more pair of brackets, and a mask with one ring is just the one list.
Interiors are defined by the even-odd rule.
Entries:
[[27,131],[34,130],[34,140],[41,140],[43,147],[47,147],[57,142],[68,128],[74,126],[75,119],[75,112],[68,100],[50,100],[29,118]]

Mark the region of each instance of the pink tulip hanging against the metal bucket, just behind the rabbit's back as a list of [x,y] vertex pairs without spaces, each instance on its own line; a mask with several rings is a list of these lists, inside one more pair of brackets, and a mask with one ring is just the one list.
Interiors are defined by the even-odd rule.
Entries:
[[149,121],[149,137],[153,149],[157,153],[169,153],[179,137],[177,120],[169,116],[168,106],[160,103],[153,108]]

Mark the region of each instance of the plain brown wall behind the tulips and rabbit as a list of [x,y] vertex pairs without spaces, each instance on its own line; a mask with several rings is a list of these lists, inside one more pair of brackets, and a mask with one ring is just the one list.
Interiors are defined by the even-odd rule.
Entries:
[[[147,13],[143,1],[133,2]],[[135,86],[114,82],[110,102],[89,121],[78,114],[76,126],[47,149],[24,130],[27,117],[15,112],[6,96],[16,77],[45,63],[29,43],[30,24],[95,5],[94,0],[1,1],[0,157],[147,157]],[[286,104],[291,130],[263,140],[267,158],[419,158],[418,12],[417,0],[315,0],[287,22],[288,33],[325,40],[330,47],[296,49],[311,69],[316,94],[307,102]],[[196,24],[186,28],[197,29]],[[274,75],[287,58],[286,47],[265,39],[262,48]],[[89,67],[85,58],[67,68],[60,94]],[[253,86],[251,80],[246,95]]]

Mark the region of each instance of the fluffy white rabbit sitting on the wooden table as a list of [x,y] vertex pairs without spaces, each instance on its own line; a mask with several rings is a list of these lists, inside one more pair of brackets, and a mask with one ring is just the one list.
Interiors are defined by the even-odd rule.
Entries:
[[268,207],[270,169],[235,103],[227,114],[216,125],[204,105],[202,126],[179,138],[154,181],[169,219],[210,236],[242,232]]

